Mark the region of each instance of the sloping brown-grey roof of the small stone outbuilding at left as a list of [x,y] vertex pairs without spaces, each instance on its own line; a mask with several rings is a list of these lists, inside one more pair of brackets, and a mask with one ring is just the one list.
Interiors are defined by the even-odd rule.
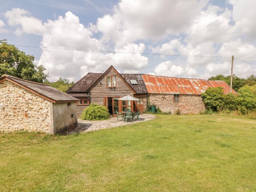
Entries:
[[48,99],[53,103],[66,103],[66,102],[79,101],[78,99],[63,93],[48,84],[27,81],[27,80],[23,80],[23,79],[16,78],[10,75],[5,75],[5,74],[0,78],[0,81],[4,78],[6,80],[11,80],[15,82],[19,86],[23,86],[27,90],[34,91],[35,94],[41,97],[45,97],[45,99]]

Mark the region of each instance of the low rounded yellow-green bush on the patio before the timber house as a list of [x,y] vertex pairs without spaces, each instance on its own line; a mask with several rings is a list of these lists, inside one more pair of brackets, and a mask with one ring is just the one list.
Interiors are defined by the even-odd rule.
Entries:
[[81,118],[82,120],[105,120],[109,118],[109,112],[105,106],[91,103],[84,109]]

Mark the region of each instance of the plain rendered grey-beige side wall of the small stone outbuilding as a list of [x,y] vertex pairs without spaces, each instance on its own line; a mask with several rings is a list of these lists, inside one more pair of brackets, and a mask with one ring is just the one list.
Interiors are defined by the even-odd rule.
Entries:
[[[67,103],[52,103],[52,114],[54,133],[74,129],[77,125],[75,102],[71,103],[71,106]],[[74,117],[71,117],[71,114],[74,114]]]

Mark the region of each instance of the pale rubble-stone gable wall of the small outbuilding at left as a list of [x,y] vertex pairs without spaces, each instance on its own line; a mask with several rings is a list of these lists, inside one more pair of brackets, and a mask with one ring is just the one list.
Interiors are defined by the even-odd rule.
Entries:
[[7,80],[0,83],[0,131],[53,133],[52,103]]

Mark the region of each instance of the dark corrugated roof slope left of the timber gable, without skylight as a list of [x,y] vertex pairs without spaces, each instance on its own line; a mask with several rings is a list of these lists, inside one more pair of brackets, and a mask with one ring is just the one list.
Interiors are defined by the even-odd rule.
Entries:
[[69,87],[67,93],[87,92],[89,87],[102,75],[102,73],[88,73],[78,80],[72,87]]

